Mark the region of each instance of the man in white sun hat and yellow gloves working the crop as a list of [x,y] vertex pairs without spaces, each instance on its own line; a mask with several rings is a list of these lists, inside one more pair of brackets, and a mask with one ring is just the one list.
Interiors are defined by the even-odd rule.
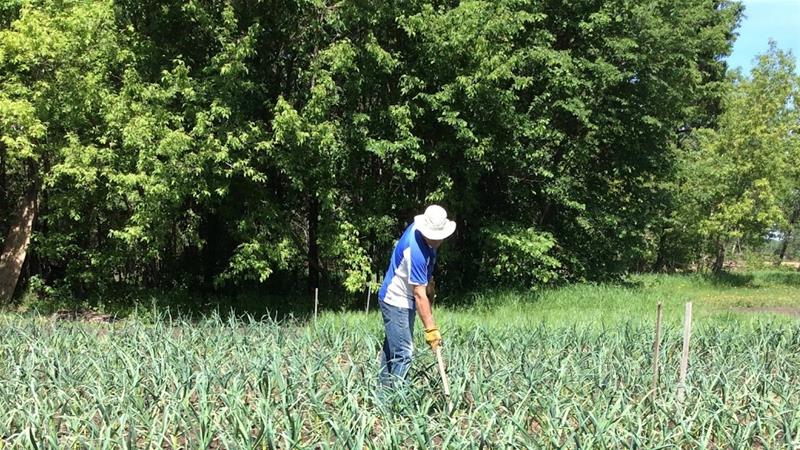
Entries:
[[392,386],[395,380],[404,380],[414,352],[414,311],[425,327],[425,341],[436,349],[442,335],[431,313],[428,285],[432,284],[436,251],[456,229],[456,223],[447,219],[447,212],[431,205],[425,214],[414,217],[395,244],[389,269],[378,292],[378,303],[383,315],[386,339],[381,354],[380,381]]

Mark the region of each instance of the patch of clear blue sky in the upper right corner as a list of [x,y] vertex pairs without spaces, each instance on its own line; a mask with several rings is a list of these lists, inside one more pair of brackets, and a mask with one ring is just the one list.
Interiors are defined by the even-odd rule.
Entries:
[[800,0],[744,0],[743,3],[745,17],[728,66],[741,66],[744,73],[750,73],[753,58],[767,50],[770,38],[778,43],[778,48],[791,50],[797,60],[800,56]]

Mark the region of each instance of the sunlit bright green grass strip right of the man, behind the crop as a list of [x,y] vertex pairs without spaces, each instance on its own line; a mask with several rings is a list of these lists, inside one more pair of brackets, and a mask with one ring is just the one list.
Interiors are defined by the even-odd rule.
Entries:
[[[475,294],[465,308],[444,308],[437,317],[460,326],[614,327],[620,323],[653,324],[658,302],[664,320],[681,324],[684,304],[692,302],[695,322],[710,325],[764,318],[797,323],[787,314],[748,312],[747,308],[797,308],[800,314],[800,272],[767,270],[723,277],[635,275],[624,284],[577,284],[520,294]],[[448,299],[444,299],[447,302]],[[348,316],[338,313],[337,318]],[[351,313],[358,321],[361,314]],[[375,319],[377,320],[377,319]]]

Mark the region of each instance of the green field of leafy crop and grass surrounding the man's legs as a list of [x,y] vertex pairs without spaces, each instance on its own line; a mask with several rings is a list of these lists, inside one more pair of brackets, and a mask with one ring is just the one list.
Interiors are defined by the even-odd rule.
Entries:
[[[459,299],[435,313],[449,416],[421,335],[413,388],[377,395],[376,313],[316,324],[6,313],[0,448],[796,448],[799,287],[796,272],[648,275]],[[681,408],[685,301],[694,329]]]

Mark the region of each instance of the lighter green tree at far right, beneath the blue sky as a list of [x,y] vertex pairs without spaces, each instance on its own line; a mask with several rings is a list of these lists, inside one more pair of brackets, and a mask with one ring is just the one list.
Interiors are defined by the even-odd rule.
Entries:
[[719,129],[693,133],[679,187],[678,221],[704,241],[714,272],[723,269],[729,246],[754,245],[770,230],[790,229],[797,192],[791,56],[771,42],[751,77],[734,74],[732,82]]

